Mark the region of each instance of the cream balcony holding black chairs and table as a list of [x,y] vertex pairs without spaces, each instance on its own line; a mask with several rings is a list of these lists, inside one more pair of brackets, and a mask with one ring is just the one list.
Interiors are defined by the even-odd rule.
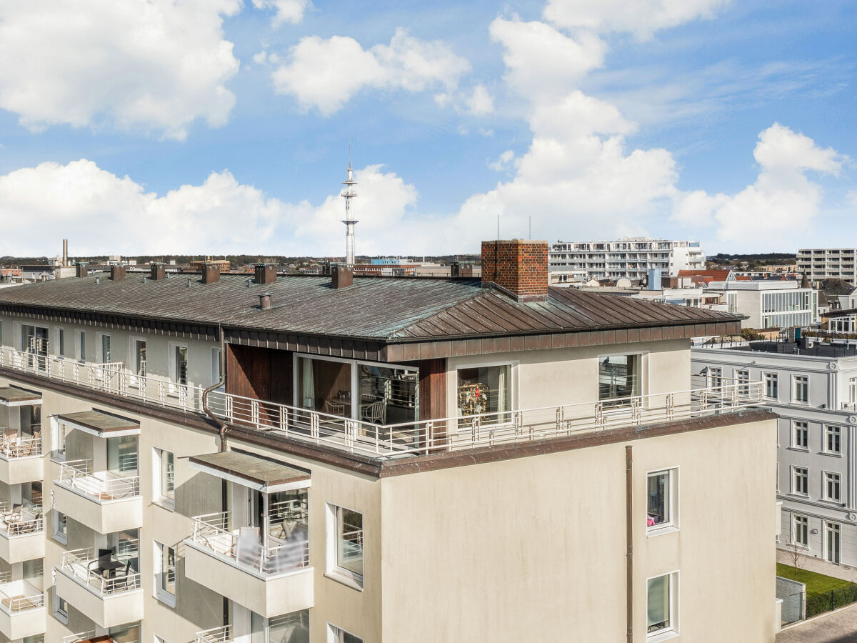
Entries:
[[62,564],[54,568],[57,594],[101,628],[139,621],[143,617],[140,574],[129,560],[112,564],[96,556],[92,548],[64,551]]

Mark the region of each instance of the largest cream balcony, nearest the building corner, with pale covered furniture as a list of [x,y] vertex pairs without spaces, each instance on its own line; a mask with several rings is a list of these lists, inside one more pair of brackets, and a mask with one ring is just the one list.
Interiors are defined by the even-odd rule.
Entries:
[[231,522],[228,512],[194,518],[184,540],[187,577],[265,617],[313,607],[309,540],[267,536],[263,543],[255,527],[231,529]]

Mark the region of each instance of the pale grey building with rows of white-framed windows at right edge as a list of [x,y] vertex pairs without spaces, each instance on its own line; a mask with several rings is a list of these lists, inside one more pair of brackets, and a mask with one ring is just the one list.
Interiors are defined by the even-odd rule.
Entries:
[[752,342],[741,348],[694,348],[692,370],[709,383],[722,377],[763,382],[776,412],[776,493],[782,501],[777,543],[809,556],[857,566],[857,350]]

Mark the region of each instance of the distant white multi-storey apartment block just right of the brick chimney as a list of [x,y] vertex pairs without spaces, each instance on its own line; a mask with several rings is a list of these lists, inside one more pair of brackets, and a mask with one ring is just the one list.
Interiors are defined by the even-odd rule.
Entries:
[[550,283],[566,285],[590,279],[647,279],[649,270],[677,275],[703,269],[698,241],[625,237],[618,241],[565,242],[550,246]]

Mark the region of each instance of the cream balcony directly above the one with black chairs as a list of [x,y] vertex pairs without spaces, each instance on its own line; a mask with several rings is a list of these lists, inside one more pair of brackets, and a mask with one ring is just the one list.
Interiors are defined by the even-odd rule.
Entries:
[[94,472],[93,460],[63,462],[54,481],[54,507],[99,533],[142,526],[140,476]]

